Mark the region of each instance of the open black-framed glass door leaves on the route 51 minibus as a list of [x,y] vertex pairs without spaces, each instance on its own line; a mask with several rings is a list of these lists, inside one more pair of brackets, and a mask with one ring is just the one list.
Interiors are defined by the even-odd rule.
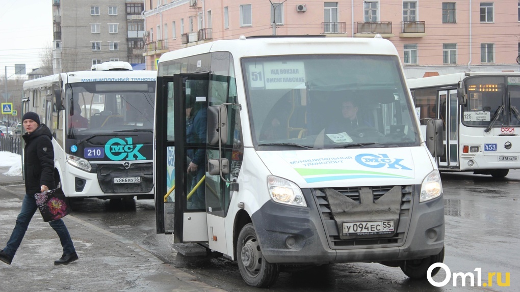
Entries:
[[[204,180],[208,84],[209,74],[157,79],[157,232],[173,233],[174,243],[207,242]],[[197,171],[188,172],[194,156],[200,160]]]

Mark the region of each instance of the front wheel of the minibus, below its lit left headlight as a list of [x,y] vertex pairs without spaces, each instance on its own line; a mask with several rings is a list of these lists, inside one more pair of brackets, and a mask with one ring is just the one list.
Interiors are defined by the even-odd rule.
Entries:
[[245,283],[253,287],[269,287],[278,279],[277,264],[267,262],[262,256],[253,224],[246,224],[237,242],[238,269]]

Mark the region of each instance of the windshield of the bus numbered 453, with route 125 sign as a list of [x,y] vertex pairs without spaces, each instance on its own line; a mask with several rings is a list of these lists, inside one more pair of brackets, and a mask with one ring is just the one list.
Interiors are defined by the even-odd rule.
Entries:
[[520,125],[520,78],[475,76],[465,81],[467,102],[462,123],[470,127]]

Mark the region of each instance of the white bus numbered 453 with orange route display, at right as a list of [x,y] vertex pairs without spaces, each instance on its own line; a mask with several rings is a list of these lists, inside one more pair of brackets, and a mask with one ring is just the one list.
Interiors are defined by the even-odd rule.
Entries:
[[504,177],[520,168],[520,73],[456,73],[408,85],[419,118],[443,120],[440,171]]

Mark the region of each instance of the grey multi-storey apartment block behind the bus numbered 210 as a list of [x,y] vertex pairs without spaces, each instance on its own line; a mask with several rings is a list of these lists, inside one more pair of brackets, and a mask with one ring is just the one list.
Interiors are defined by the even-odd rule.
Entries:
[[144,3],[139,0],[53,0],[54,73],[125,61],[144,69]]

